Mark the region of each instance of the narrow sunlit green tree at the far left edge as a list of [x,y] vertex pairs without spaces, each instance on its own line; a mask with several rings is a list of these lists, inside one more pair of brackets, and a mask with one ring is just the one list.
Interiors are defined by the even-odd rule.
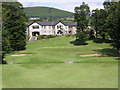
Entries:
[[6,62],[3,60],[5,58],[5,54],[10,53],[12,48],[10,46],[10,33],[8,31],[8,16],[10,14],[10,11],[6,8],[2,8],[2,22],[4,21],[2,25],[2,63],[6,64]]

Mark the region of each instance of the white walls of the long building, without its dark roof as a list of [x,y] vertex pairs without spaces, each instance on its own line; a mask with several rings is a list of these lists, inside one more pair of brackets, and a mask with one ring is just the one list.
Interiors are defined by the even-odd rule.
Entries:
[[[33,26],[39,26],[39,29],[33,29]],[[39,25],[38,23],[33,23],[27,28],[27,35],[32,36],[32,32],[39,32],[40,35],[57,35],[58,28],[57,26],[61,25],[62,28],[64,29],[63,34],[69,33],[69,27],[65,26],[63,23],[59,22],[57,25],[55,25],[55,29],[53,29],[52,26],[45,26],[46,28],[42,28],[43,26]],[[28,31],[29,29],[29,31]],[[76,26],[72,27],[72,34],[76,34]],[[55,32],[55,33],[54,33]]]

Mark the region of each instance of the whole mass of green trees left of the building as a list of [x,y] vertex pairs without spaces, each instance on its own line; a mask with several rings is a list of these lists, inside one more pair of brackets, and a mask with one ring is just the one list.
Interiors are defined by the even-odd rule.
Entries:
[[11,51],[25,50],[26,15],[19,2],[2,3],[2,63]]

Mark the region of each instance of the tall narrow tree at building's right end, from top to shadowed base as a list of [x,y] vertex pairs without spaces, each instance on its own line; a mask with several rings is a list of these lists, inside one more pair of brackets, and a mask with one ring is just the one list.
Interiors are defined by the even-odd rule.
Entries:
[[89,6],[84,2],[80,7],[75,7],[74,19],[77,22],[77,34],[76,38],[81,42],[81,44],[86,41],[85,29],[88,27],[90,16]]

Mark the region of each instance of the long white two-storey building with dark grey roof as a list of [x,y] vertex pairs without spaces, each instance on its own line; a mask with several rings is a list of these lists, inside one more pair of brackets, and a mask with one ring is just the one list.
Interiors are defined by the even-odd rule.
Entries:
[[32,37],[36,34],[38,35],[66,35],[66,34],[76,34],[77,23],[65,24],[61,21],[58,22],[31,22],[26,23],[27,35]]

